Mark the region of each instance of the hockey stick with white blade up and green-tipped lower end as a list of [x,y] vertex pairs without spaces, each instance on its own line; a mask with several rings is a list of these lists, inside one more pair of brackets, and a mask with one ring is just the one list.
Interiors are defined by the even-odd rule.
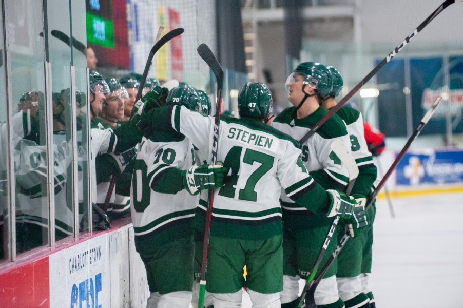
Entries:
[[[345,144],[340,140],[336,139],[331,143],[331,149],[333,152],[336,154],[336,156],[341,160],[341,162],[344,164],[344,166],[348,169],[349,172],[349,183],[346,186],[346,194],[349,195],[352,187],[354,187],[355,180],[357,179],[358,176],[358,167],[357,163],[355,162],[355,159],[352,157],[351,151],[345,146]],[[317,274],[318,267],[320,267],[320,263],[323,259],[323,256],[326,253],[326,249],[328,248],[328,245],[331,242],[331,237],[334,234],[334,231],[338,225],[339,222],[339,216],[336,215],[335,219],[333,220],[333,223],[331,224],[330,229],[328,230],[328,234],[326,235],[326,238],[323,242],[323,246],[320,249],[320,252],[318,253],[318,257],[315,260],[314,267],[312,268],[310,275],[307,278],[307,281],[305,282],[305,286],[302,289],[301,297],[299,299],[298,307],[302,307],[304,303],[304,298],[305,295],[307,294],[307,291],[311,287],[315,274]]]

